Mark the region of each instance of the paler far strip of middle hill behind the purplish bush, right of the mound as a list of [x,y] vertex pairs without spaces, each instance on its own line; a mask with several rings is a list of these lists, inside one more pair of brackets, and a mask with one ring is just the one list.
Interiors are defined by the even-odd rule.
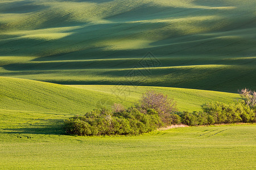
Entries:
[[[145,87],[145,86],[106,86],[106,85],[69,85],[70,87],[82,88],[97,92],[114,95],[117,103],[122,103],[126,100],[137,101],[141,95],[148,90],[155,90],[168,95],[170,98],[177,101],[177,107],[180,111],[199,111],[200,106],[209,101],[232,102],[240,98],[237,94],[226,92],[193,90],[185,88],[171,87]],[[104,100],[104,98],[103,98]],[[104,100],[106,103],[108,99]],[[109,102],[111,103],[111,102]]]

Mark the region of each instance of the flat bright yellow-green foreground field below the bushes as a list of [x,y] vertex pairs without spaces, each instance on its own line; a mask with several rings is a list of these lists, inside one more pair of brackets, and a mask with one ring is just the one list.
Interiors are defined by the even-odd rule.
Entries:
[[136,137],[1,130],[0,168],[255,169],[255,130],[255,125],[189,127]]

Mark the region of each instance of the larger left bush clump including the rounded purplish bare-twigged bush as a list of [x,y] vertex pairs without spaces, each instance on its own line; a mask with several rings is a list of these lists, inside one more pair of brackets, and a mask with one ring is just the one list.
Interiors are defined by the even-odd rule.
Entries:
[[147,133],[173,121],[176,103],[166,95],[155,91],[144,94],[138,104],[125,109],[115,104],[112,111],[94,109],[84,116],[71,117],[64,121],[68,134],[73,135],[127,135]]

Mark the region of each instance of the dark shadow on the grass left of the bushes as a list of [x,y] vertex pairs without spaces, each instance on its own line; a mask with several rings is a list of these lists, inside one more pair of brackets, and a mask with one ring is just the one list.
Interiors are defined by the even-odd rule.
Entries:
[[[40,121],[40,120],[39,120]],[[42,122],[43,121],[43,122]],[[42,123],[22,124],[17,128],[2,129],[5,134],[65,134],[63,120],[42,120]]]

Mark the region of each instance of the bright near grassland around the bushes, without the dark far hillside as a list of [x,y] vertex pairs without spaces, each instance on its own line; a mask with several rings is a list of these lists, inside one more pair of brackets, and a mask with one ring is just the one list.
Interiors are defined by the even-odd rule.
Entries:
[[64,135],[61,129],[64,118],[88,111],[96,99],[103,97],[98,103],[102,105],[118,102],[117,89],[122,89],[118,96],[126,105],[143,91],[155,89],[177,95],[187,108],[202,99],[232,101],[236,94],[161,87],[68,87],[5,77],[0,82],[0,169],[255,168],[255,125],[90,138]]

